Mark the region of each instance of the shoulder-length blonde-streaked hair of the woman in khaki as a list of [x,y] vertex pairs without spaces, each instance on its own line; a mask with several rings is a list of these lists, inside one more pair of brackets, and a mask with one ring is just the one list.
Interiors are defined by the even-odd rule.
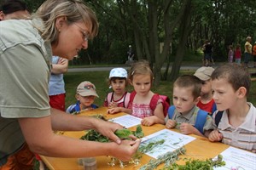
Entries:
[[45,41],[52,44],[58,43],[59,31],[55,27],[57,18],[67,17],[67,24],[84,22],[90,29],[90,38],[96,37],[98,32],[98,22],[94,12],[80,0],[47,0],[35,14],[43,20],[44,28],[40,32]]

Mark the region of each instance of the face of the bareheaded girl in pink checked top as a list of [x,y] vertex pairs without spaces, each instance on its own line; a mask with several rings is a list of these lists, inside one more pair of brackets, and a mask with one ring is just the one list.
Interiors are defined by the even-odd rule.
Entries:
[[138,95],[146,96],[151,88],[151,77],[150,75],[134,75],[131,85]]

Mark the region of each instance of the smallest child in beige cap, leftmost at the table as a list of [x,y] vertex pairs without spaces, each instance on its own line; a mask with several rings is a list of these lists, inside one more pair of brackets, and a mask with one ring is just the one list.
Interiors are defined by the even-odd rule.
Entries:
[[67,108],[67,113],[73,113],[82,110],[92,110],[98,108],[97,105],[93,104],[96,97],[96,87],[91,82],[81,82],[77,88],[77,94],[75,95],[77,103],[70,105]]

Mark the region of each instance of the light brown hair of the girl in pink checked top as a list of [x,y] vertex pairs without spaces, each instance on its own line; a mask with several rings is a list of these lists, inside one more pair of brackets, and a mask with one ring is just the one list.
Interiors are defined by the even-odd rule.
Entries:
[[128,74],[129,80],[132,82],[134,75],[150,75],[151,82],[153,82],[154,75],[153,71],[150,68],[148,60],[139,60],[131,65],[131,69]]

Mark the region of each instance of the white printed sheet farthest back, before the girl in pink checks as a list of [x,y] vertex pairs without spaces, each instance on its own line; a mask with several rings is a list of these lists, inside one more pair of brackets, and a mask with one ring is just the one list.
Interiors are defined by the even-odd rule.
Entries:
[[109,121],[119,123],[120,125],[129,128],[141,124],[142,119],[136,116],[125,115],[110,119]]

